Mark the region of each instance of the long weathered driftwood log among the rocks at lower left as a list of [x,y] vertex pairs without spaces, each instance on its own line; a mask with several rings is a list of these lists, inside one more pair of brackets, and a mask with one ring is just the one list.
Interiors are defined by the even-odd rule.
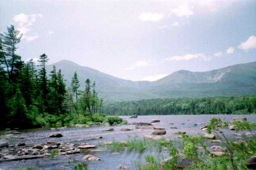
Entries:
[[[60,153],[60,155],[69,155],[69,154],[74,154],[74,153],[80,153],[80,149],[76,149],[76,150],[69,150],[67,152],[62,152]],[[44,155],[24,155],[24,156],[4,156],[2,160],[0,160],[0,162],[3,161],[18,161],[18,160],[23,160],[23,159],[38,159],[38,158],[45,158],[45,157],[49,157],[50,154],[44,154]]]

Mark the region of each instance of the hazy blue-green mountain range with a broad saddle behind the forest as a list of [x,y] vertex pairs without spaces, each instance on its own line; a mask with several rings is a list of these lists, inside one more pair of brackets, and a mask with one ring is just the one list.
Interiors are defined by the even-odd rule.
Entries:
[[120,79],[68,60],[47,65],[48,73],[53,65],[61,69],[67,86],[75,71],[78,73],[81,89],[84,89],[87,78],[95,81],[99,96],[105,100],[256,94],[256,62],[205,72],[180,70],[154,82]]

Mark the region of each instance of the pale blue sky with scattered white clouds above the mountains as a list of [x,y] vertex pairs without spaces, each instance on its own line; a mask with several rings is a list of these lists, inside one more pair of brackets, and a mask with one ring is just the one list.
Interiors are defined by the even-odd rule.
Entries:
[[0,32],[11,24],[25,61],[134,81],[256,61],[256,0],[0,0]]

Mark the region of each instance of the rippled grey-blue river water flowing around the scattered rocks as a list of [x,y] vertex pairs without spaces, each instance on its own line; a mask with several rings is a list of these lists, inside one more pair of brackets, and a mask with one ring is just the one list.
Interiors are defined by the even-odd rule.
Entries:
[[[129,116],[122,116],[128,122],[151,122],[151,119],[159,119],[160,122],[153,123],[155,127],[164,127],[166,130],[166,135],[164,137],[177,139],[178,135],[173,134],[176,130],[186,130],[188,134],[198,135],[205,132],[200,129],[201,126],[208,123],[209,118],[211,117],[220,117],[226,121],[230,121],[233,117],[243,116],[246,117],[250,122],[256,122],[256,115],[162,115],[162,116],[138,116],[137,119],[130,119]],[[173,123],[173,125],[170,125]],[[182,125],[185,123],[184,125]],[[200,123],[201,125],[195,126],[194,124]],[[133,130],[131,131],[122,131],[121,128],[128,127]],[[170,127],[177,127],[177,129],[170,129]],[[108,142],[113,140],[127,140],[134,136],[143,136],[151,135],[154,131],[152,129],[135,129],[135,125],[121,125],[114,126],[114,131],[112,132],[103,132],[110,127],[89,127],[89,128],[65,128],[65,129],[56,129],[56,130],[38,130],[38,131],[28,131],[24,132],[17,136],[27,136],[26,139],[19,139],[13,141],[12,143],[25,142],[28,146],[33,146],[34,144],[45,144],[48,140],[54,140],[56,142],[70,142],[78,144],[80,142],[99,145],[101,142]],[[53,133],[59,132],[63,137],[58,139],[49,138]],[[233,133],[236,133],[232,130],[224,129],[224,133],[227,133],[229,136],[232,136]],[[98,136],[102,136],[102,139],[94,139]],[[83,151],[79,154],[74,154],[76,159],[81,160],[82,157],[90,153],[94,156],[102,159],[101,161],[87,161],[89,170],[116,170],[118,164],[122,164],[126,167],[132,169],[134,161],[143,159],[143,154],[137,152],[127,153],[123,151],[122,153],[111,153],[109,150],[105,152],[87,152]],[[70,155],[69,155],[70,156]],[[44,170],[70,170],[72,166],[68,164],[68,158],[65,156],[56,156],[54,159],[42,158],[42,159],[32,159],[22,161],[8,161],[0,162],[0,169],[3,170],[13,170],[19,167],[37,167],[38,169]],[[64,168],[61,166],[64,165]]]

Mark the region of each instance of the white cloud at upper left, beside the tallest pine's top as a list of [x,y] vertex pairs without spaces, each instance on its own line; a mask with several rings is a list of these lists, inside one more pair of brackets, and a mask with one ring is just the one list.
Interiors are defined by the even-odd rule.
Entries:
[[20,13],[14,16],[13,20],[17,23],[17,30],[20,31],[20,34],[23,34],[22,38],[25,38],[27,41],[32,41],[38,38],[38,35],[31,36],[28,35],[31,31],[31,27],[34,25],[37,18],[42,18],[42,14],[24,14]]

